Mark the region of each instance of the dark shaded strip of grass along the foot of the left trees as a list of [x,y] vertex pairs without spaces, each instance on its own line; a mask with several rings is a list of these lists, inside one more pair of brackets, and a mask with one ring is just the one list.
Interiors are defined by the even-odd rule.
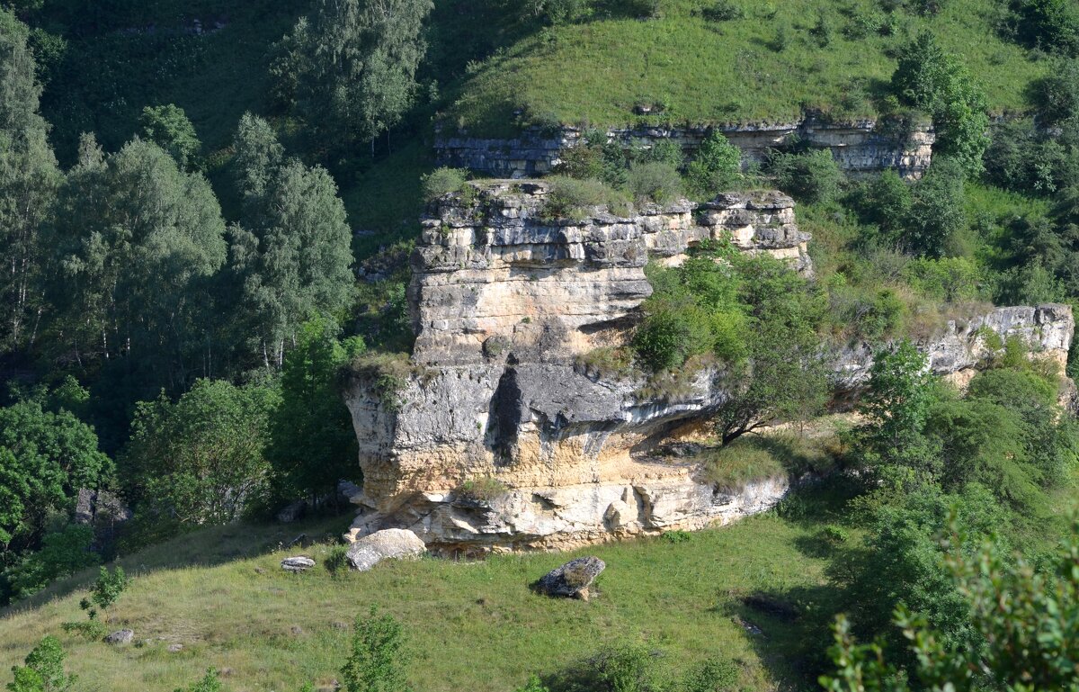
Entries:
[[[227,562],[250,559],[273,553],[300,537],[306,537],[306,545],[334,541],[352,521],[352,514],[333,517],[313,517],[293,524],[240,523],[216,526],[155,543],[131,555],[109,562],[108,567],[120,566],[128,576],[138,576],[160,570],[190,567],[216,567]],[[297,541],[297,552],[303,553],[301,541]],[[83,570],[73,576],[62,579],[29,598],[0,608],[0,618],[39,608],[47,601],[64,598],[73,592],[87,588],[98,573],[97,567]]]

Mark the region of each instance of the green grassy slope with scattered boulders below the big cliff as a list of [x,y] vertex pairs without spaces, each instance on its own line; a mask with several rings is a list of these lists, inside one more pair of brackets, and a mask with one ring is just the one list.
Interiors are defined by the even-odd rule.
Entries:
[[[408,633],[410,680],[419,692],[508,692],[533,671],[557,670],[624,639],[646,641],[680,668],[710,655],[739,660],[747,689],[789,687],[804,674],[795,652],[808,644],[795,625],[748,611],[737,596],[818,587],[824,560],[807,557],[817,530],[810,524],[770,514],[680,542],[660,538],[578,552],[607,562],[590,602],[529,588],[569,554],[423,559],[334,578],[322,565],[299,575],[278,567],[299,553],[320,560],[328,545],[263,547],[301,530],[316,535],[340,528],[226,527],[125,558],[121,564],[135,579],[111,625],[133,628],[136,641],[150,640],[144,646],[113,648],[63,634],[62,622],[83,616],[84,593],[74,588],[78,580],[60,584],[23,610],[0,614],[0,669],[54,633],[80,689],[173,690],[207,666],[231,669],[230,690],[298,690],[306,680],[326,686],[346,652],[350,632],[341,623],[377,603]],[[764,634],[749,635],[738,618]],[[183,650],[169,653],[170,643]]]

